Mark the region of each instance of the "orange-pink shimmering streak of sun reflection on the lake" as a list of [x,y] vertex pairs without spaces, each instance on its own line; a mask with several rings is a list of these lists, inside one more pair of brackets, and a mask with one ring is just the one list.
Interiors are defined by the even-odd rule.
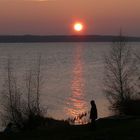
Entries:
[[74,53],[74,64],[72,71],[71,91],[68,99],[67,114],[71,117],[86,112],[84,78],[83,78],[83,46],[77,46]]

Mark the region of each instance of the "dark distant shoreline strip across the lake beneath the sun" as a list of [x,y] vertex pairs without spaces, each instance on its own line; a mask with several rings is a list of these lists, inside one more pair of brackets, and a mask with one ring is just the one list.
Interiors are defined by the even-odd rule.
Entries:
[[[124,36],[127,42],[140,42],[140,37]],[[0,43],[43,42],[113,42],[119,36],[112,35],[0,35]]]

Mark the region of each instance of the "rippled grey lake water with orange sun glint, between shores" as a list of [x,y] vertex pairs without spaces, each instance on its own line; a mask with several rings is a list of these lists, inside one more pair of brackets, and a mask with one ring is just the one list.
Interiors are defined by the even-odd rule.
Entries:
[[[7,58],[13,60],[19,77],[33,67],[41,54],[43,87],[41,103],[49,116],[74,117],[97,104],[99,117],[109,116],[103,93],[103,55],[111,43],[13,43],[0,44],[0,83],[3,84]],[[140,43],[130,43],[140,50]],[[22,78],[21,78],[22,79]],[[2,88],[1,88],[2,89]]]

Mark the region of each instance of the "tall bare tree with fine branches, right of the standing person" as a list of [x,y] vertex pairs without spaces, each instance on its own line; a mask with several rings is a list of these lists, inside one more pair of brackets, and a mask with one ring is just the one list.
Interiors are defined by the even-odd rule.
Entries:
[[134,108],[135,104],[139,106],[138,101],[134,100],[134,97],[138,95],[135,89],[137,67],[133,51],[130,46],[126,45],[121,32],[119,39],[113,42],[104,60],[104,92],[111,104],[110,109],[119,115],[128,113],[135,115],[136,111],[138,114],[140,108],[137,110]]

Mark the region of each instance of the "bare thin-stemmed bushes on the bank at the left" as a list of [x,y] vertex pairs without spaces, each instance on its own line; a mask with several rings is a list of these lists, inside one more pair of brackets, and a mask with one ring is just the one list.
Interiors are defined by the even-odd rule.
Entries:
[[[28,71],[24,81],[26,87],[23,90],[14,73],[11,59],[8,58],[6,66],[6,78],[2,91],[1,114],[5,125],[12,123],[16,131],[36,129],[44,124],[43,109],[40,106],[41,92],[41,58],[39,57],[37,68]],[[23,92],[24,91],[24,92]]]

